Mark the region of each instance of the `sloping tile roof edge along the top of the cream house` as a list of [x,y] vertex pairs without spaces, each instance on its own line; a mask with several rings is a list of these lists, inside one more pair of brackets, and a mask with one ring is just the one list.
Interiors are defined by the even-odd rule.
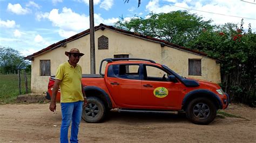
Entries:
[[[186,48],[186,47],[183,47],[183,46],[179,46],[179,45],[173,44],[171,42],[167,42],[165,40],[149,37],[149,36],[142,35],[142,34],[139,34],[139,33],[122,30],[122,29],[119,29],[119,28],[115,28],[113,26],[108,26],[108,25],[100,24],[98,26],[95,26],[95,31],[97,31],[97,30],[104,30],[105,28],[107,28],[109,30],[117,31],[117,32],[120,32],[120,33],[123,33],[123,34],[126,34],[126,35],[130,35],[130,36],[133,36],[133,37],[142,38],[142,39],[150,40],[150,41],[153,41],[153,42],[158,42],[161,45],[161,47],[168,46],[168,47],[180,49],[180,50],[183,50],[183,51],[188,51],[188,52],[192,52],[192,53],[195,53],[195,54],[207,56],[207,54],[204,53],[204,52],[200,52],[200,51],[197,51],[197,50],[194,50],[194,49],[189,49],[189,48]],[[87,30],[85,30],[83,32],[80,32],[80,33],[76,34],[76,35],[73,35],[72,37],[70,37],[68,39],[64,39],[64,40],[58,41],[55,44],[52,44],[52,45],[42,49],[41,51],[38,51],[36,53],[33,53],[31,55],[26,56],[25,59],[26,60],[32,60],[33,57],[35,57],[35,56],[37,56],[39,54],[42,54],[42,53],[50,51],[52,49],[61,47],[65,43],[73,41],[73,40],[76,40],[76,39],[81,38],[81,37],[84,37],[87,34],[90,34],[90,29],[87,29]],[[208,58],[212,58],[210,56],[207,56],[207,57]],[[212,58],[212,59],[219,61],[219,59],[215,59],[215,58]]]

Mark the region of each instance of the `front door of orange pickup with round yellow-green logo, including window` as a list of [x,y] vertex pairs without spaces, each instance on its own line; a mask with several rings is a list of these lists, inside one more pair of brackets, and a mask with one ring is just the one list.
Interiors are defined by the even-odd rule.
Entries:
[[181,103],[181,83],[168,81],[167,73],[164,69],[143,65],[142,76],[142,106],[147,108],[177,108]]

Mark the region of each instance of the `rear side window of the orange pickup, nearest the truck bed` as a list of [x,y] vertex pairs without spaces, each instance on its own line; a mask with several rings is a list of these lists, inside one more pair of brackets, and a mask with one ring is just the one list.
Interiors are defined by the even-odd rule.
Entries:
[[113,73],[120,78],[139,80],[139,65],[113,65]]

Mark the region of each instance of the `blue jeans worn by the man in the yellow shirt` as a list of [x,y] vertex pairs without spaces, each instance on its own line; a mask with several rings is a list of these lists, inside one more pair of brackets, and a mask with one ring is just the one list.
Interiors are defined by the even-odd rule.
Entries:
[[72,120],[70,142],[78,142],[78,128],[82,118],[83,101],[60,103],[62,106],[62,126],[60,127],[60,142],[69,142],[68,133]]

